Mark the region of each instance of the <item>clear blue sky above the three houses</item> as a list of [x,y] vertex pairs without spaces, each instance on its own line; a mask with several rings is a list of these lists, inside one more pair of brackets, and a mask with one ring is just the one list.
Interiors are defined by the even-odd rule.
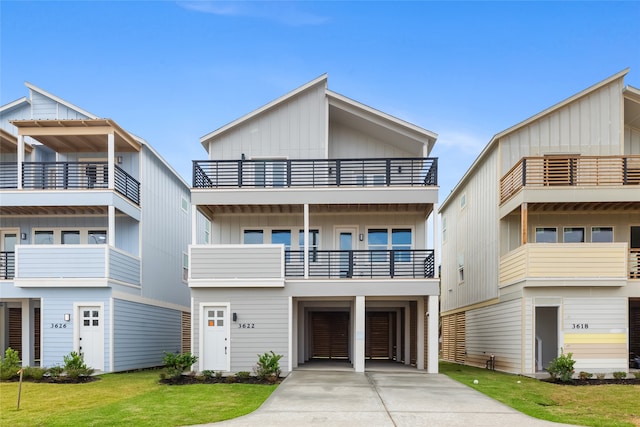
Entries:
[[496,133],[630,67],[640,2],[0,2],[0,104],[28,81],[146,139],[199,138],[318,77],[439,134],[441,201]]

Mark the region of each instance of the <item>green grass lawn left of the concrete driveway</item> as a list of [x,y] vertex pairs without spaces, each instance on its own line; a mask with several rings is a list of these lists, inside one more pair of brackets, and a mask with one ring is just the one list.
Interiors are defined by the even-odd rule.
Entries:
[[254,411],[275,385],[158,384],[160,371],[105,374],[87,384],[0,383],[2,426],[180,426]]

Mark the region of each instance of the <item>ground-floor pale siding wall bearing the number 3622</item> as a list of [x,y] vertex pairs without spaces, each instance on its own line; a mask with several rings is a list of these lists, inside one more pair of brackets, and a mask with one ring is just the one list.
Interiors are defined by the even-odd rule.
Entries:
[[[286,372],[289,364],[289,299],[282,292],[262,289],[193,289],[194,352],[200,351],[200,303],[230,303],[230,313],[238,321],[231,324],[231,372],[251,372],[258,355],[273,351],[284,357],[280,368]],[[239,328],[240,323],[252,323],[255,328]]]

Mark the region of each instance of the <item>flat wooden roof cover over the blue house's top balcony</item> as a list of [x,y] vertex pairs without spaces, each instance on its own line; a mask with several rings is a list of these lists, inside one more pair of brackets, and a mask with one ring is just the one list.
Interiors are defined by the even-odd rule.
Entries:
[[114,134],[115,150],[140,151],[142,144],[111,119],[12,120],[18,133],[30,136],[58,153],[107,151],[108,134]]

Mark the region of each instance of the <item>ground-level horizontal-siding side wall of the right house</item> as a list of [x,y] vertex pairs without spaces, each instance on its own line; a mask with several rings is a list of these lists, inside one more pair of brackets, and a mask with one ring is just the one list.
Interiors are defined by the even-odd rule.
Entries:
[[467,363],[484,367],[488,356],[496,356],[496,369],[520,372],[522,300],[467,311]]

